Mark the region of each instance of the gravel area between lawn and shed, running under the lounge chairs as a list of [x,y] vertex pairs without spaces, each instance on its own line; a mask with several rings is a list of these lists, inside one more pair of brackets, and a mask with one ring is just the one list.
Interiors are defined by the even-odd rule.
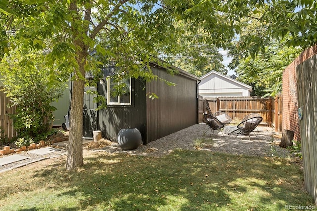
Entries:
[[[263,157],[288,157],[292,154],[285,148],[278,146],[282,134],[275,132],[271,127],[257,127],[255,133],[248,135],[226,135],[211,130],[204,132],[208,129],[206,124],[195,124],[176,133],[170,134],[156,141],[150,142],[148,145],[140,145],[135,150],[125,151],[122,150],[116,142],[110,142],[106,145],[99,145],[98,147],[88,148],[87,143],[84,144],[83,154],[95,153],[97,151],[106,151],[108,153],[127,153],[130,155],[158,157],[173,152],[175,149],[185,150],[207,150],[213,152],[224,152],[236,155],[248,156],[263,156]],[[212,139],[212,140],[211,140]],[[209,140],[208,146],[197,147],[197,142]],[[29,159],[11,163],[0,167],[0,172],[4,172],[17,167],[23,167],[35,162],[44,162],[47,159],[61,157],[66,159],[67,148],[64,145],[55,143],[53,147],[60,148],[60,151],[54,152],[49,155],[35,155],[28,151],[22,152],[20,155],[28,156]]]

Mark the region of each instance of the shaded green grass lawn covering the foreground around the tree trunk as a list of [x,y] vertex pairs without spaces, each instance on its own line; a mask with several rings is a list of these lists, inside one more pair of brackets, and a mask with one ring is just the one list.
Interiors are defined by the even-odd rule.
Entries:
[[1,173],[0,210],[277,211],[315,205],[300,164],[288,158],[98,152],[85,156],[75,172],[65,170],[65,159]]

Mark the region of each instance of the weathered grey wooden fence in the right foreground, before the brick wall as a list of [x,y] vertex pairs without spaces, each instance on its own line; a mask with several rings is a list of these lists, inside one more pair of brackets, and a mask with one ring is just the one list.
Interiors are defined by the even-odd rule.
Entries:
[[304,184],[317,204],[317,55],[296,68]]

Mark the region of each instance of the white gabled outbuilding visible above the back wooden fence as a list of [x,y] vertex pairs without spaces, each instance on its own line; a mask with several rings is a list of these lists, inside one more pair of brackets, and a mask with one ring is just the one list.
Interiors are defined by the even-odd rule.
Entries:
[[252,87],[217,71],[210,71],[201,77],[199,95],[206,97],[250,97]]

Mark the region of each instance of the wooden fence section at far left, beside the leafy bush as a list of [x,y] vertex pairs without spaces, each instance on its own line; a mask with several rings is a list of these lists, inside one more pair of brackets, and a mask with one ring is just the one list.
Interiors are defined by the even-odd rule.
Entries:
[[[2,87],[0,87],[2,88]],[[10,119],[10,114],[15,113],[16,107],[8,108],[9,99],[5,93],[0,91],[0,140],[12,139],[16,137],[16,131],[13,128],[13,121]]]

